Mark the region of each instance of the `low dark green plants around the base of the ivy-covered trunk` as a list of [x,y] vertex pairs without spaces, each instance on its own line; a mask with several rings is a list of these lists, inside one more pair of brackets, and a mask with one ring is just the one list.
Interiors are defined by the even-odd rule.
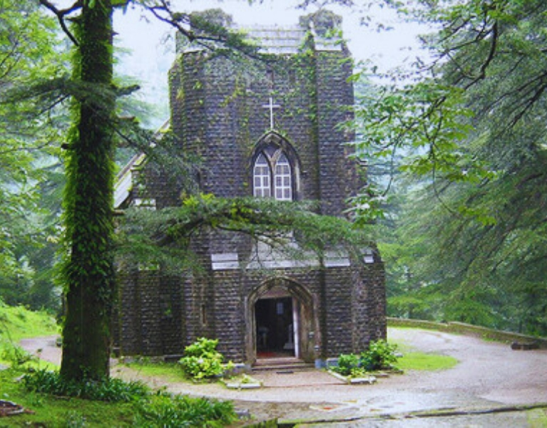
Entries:
[[105,402],[132,402],[150,394],[143,382],[124,382],[108,378],[101,381],[66,381],[58,372],[37,370],[25,374],[23,382],[29,391],[44,392],[61,397],[81,397]]

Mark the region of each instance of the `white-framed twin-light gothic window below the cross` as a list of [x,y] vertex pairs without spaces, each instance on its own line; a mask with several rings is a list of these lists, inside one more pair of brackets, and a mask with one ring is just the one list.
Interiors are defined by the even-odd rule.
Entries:
[[253,195],[257,198],[292,200],[292,168],[283,151],[277,150],[272,156],[261,152],[253,168]]

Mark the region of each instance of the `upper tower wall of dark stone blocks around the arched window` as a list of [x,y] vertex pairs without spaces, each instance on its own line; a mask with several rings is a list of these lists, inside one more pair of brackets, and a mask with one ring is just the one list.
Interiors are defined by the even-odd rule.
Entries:
[[[179,56],[171,81],[180,81],[184,90],[171,90],[173,130],[186,151],[200,156],[203,192],[252,195],[252,154],[269,131],[264,106],[273,94],[280,106],[275,130],[287,136],[302,166],[297,199],[321,199],[324,213],[342,212],[357,187],[344,146],[352,136],[338,128],[351,116],[352,85],[346,82],[351,65],[347,52],[308,56],[274,63],[273,91],[263,63],[233,63],[201,52]],[[297,73],[287,71],[291,67],[299,67]]]

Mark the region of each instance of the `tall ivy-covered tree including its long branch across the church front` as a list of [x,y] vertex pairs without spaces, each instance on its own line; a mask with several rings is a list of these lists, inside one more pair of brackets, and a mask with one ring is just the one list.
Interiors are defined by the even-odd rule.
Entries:
[[[210,16],[178,13],[165,0],[78,0],[65,9],[49,0],[39,1],[56,17],[73,45],[71,78],[36,85],[41,84],[44,91],[71,96],[72,101],[72,126],[63,144],[67,185],[63,198],[62,281],[66,315],[61,376],[71,380],[100,380],[109,375],[111,315],[116,304],[116,213],[112,201],[117,142],[136,144],[153,157],[170,141],[168,136],[154,139],[131,118],[118,114],[119,99],[136,87],[117,86],[113,79],[113,11],[129,6],[143,8],[189,41],[223,55],[236,53],[260,58],[261,54],[258,46],[250,44],[243,34],[225,28]],[[118,240],[117,250],[122,254],[130,247],[133,253],[136,248],[150,250],[154,246],[170,250],[176,243],[184,252],[185,238],[203,228],[235,230],[255,237],[267,236],[269,244],[284,243],[285,235],[279,233],[295,224],[308,231],[303,235],[307,235],[310,242],[307,248],[312,250],[326,245],[328,237],[332,242],[339,240],[344,232],[348,243],[365,245],[366,240],[369,244],[369,239],[354,230],[347,220],[322,218],[300,205],[285,204],[274,209],[267,201],[189,198],[183,207],[155,213],[148,220],[146,230],[151,234],[127,235],[131,245]],[[135,224],[138,227],[145,223]]]

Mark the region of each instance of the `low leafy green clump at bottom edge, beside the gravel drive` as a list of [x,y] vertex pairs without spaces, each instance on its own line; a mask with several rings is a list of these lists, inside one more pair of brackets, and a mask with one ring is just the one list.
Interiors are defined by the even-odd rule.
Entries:
[[235,422],[233,404],[157,394],[137,404],[137,427],[223,427]]

